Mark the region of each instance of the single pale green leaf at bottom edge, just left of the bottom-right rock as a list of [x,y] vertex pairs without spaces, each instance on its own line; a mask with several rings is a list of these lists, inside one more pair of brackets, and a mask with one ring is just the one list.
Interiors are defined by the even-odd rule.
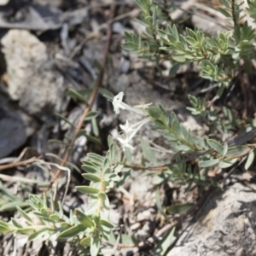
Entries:
[[154,248],[152,255],[154,255],[154,256],[166,255],[168,248],[175,241],[174,237],[173,237],[174,232],[175,232],[175,227],[172,228],[172,230],[166,231],[163,238],[160,241],[158,241],[156,247]]

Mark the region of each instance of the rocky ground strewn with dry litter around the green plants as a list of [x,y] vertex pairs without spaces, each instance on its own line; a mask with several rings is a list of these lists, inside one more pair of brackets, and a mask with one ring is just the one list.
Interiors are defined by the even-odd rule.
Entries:
[[[220,26],[226,26],[226,21],[217,16],[218,24],[215,22],[219,3],[210,2],[177,1],[177,11],[171,15],[182,19],[194,11],[189,16],[190,26],[197,25],[214,34]],[[57,140],[66,143],[67,137],[72,137],[74,129],[70,123],[78,125],[87,106],[91,86],[104,63],[110,22],[113,34],[100,86],[113,95],[123,91],[125,102],[130,105],[161,103],[168,112],[177,113],[183,125],[197,135],[208,131],[209,127],[185,108],[187,94],[201,90],[198,84],[204,84],[196,67],[184,66],[169,78],[168,61],[164,63],[166,72],[160,75],[153,62],[121,48],[126,31],[143,31],[134,20],[139,9],[133,1],[116,1],[113,18],[111,0],[14,0],[4,4],[0,6],[0,219],[7,221],[17,216],[15,207],[26,208],[27,196],[42,193],[55,176],[54,168],[37,165],[36,160],[61,164],[64,147]],[[77,90],[84,91],[83,99],[78,100]],[[99,113],[96,123],[84,123],[86,136],[75,140],[69,158],[73,166],[64,204],[66,212],[86,207],[87,196],[74,188],[85,183],[78,172],[82,171],[81,160],[89,152],[106,153],[108,135],[118,137],[119,124],[125,119],[138,119],[127,112],[117,116],[102,94],[96,97],[92,110]],[[160,149],[156,151],[159,163],[170,159],[170,145],[159,131],[146,125],[139,132],[134,141],[134,164],[141,163],[142,140]],[[65,173],[57,182],[55,189],[61,197],[67,184]],[[198,211],[179,223],[166,246],[170,247],[166,255],[256,255],[253,182],[253,172],[241,175],[239,169],[222,188],[210,191],[198,204]],[[199,191],[188,191],[187,187],[172,182],[159,186],[148,170],[133,171],[125,184],[109,195],[110,219],[117,226],[124,225],[124,234],[147,241],[177,217],[167,221],[159,201],[164,207],[199,201]],[[160,195],[156,193],[158,189]],[[137,245],[119,248],[115,255],[162,255],[150,246]],[[7,234],[1,235],[0,255],[76,254],[68,244],[31,242],[26,236]]]

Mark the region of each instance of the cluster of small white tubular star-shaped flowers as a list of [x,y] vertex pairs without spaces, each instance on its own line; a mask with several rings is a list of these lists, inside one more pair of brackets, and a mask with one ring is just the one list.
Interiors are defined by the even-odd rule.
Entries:
[[119,140],[119,143],[121,143],[123,150],[125,151],[125,148],[134,149],[130,144],[131,139],[136,135],[137,131],[139,131],[139,129],[143,127],[143,125],[145,125],[146,123],[148,123],[148,121],[151,120],[147,112],[147,108],[148,106],[151,105],[151,103],[131,107],[125,104],[125,102],[123,102],[124,95],[125,95],[124,92],[119,92],[117,96],[113,97],[113,102],[112,102],[113,110],[116,114],[119,114],[119,109],[126,109],[135,113],[142,114],[143,116],[147,116],[145,119],[133,125],[130,125],[127,119],[126,119],[125,125],[119,125],[122,131],[125,133],[125,139],[119,137],[118,140]]

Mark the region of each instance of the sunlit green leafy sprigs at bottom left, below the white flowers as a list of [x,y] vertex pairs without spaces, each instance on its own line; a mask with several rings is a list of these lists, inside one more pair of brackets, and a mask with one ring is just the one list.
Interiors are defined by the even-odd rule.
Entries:
[[67,217],[61,202],[56,202],[51,196],[44,195],[41,199],[38,195],[30,195],[27,200],[27,205],[31,207],[29,213],[17,207],[20,218],[12,218],[9,223],[1,221],[0,232],[26,234],[29,240],[47,240],[55,234],[58,234],[60,241],[72,241],[77,237],[80,247],[88,247],[90,255],[97,255],[102,239],[108,241],[114,228],[108,220],[107,193],[119,181],[118,173],[123,168],[118,163],[117,149],[113,143],[109,144],[109,148],[106,157],[91,153],[88,160],[83,161],[86,173],[82,176],[90,181],[90,186],[78,186],[76,189],[90,195],[85,212],[75,209]]

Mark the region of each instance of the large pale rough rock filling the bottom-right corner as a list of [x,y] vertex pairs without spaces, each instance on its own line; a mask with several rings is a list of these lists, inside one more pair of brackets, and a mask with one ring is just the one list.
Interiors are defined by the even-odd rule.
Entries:
[[213,195],[168,256],[256,255],[256,185],[234,183]]

